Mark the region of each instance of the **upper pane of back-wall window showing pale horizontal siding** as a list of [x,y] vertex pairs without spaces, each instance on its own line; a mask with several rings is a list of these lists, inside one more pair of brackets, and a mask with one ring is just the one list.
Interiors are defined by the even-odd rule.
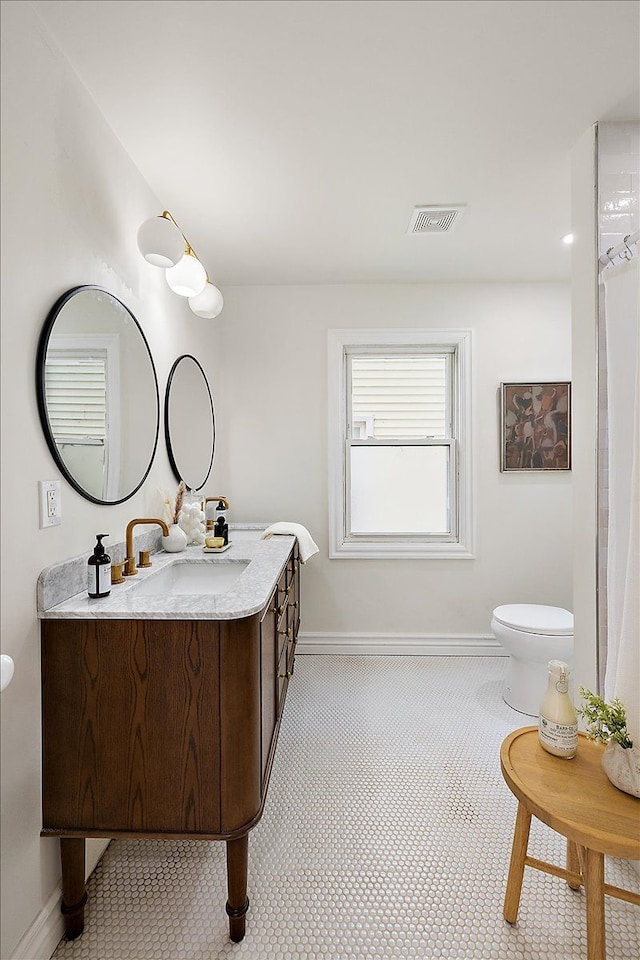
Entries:
[[354,436],[419,440],[448,435],[444,356],[353,357],[351,384],[354,428],[360,425]]

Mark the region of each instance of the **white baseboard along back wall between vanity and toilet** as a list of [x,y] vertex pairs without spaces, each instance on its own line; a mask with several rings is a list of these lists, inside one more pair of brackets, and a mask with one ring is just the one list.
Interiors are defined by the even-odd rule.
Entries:
[[362,656],[506,657],[495,637],[483,633],[306,633],[298,653]]

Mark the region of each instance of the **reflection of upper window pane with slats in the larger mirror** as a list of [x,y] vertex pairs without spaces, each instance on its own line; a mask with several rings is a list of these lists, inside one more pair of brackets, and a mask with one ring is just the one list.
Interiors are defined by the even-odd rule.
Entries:
[[47,356],[45,389],[57,443],[104,444],[107,432],[106,361]]

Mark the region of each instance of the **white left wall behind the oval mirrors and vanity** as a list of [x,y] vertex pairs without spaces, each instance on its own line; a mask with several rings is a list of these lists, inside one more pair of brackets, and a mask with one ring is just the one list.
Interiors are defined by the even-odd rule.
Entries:
[[[132,517],[150,515],[157,486],[176,487],[161,429],[152,473],[133,499],[99,507],[63,480],[61,526],[38,529],[37,481],[59,476],[36,407],[40,329],[68,288],[106,287],[145,331],[162,400],[168,371],[180,353],[195,353],[205,370],[210,367],[201,349],[210,324],[194,317],[168,290],[162,271],[139,255],[137,228],[160,213],[162,203],[55,49],[31,4],[3,4],[2,26],[1,644],[16,664],[2,694],[1,956],[7,958],[54,893],[59,876],[57,841],[39,837],[38,574],[91,550],[97,532],[122,540]],[[213,391],[215,398],[215,386]]]

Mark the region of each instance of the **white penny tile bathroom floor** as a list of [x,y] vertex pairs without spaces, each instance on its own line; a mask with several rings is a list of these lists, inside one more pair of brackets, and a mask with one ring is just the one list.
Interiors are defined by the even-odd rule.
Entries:
[[[499,749],[531,723],[497,657],[298,656],[249,839],[247,935],[228,939],[225,847],[113,841],[84,934],[55,960],[583,960],[584,892],[525,870],[502,919],[516,800]],[[533,820],[530,854],[562,864]],[[624,862],[607,881],[638,890]],[[609,960],[638,960],[640,910],[606,898]]]

